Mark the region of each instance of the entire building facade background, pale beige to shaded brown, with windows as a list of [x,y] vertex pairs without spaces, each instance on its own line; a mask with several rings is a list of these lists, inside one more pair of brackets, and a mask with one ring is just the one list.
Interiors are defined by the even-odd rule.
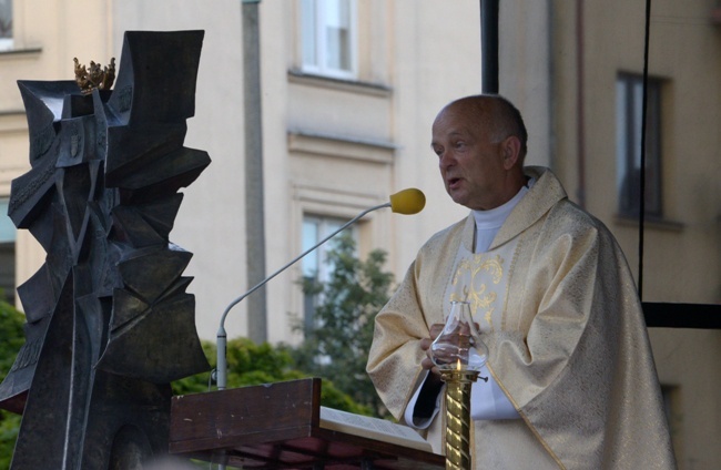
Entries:
[[[185,145],[207,151],[213,163],[184,191],[171,232],[172,242],[194,254],[186,274],[195,277],[189,290],[200,336],[213,339],[225,307],[252,287],[250,251],[264,254],[271,274],[344,221],[413,186],[427,196],[420,214],[382,210],[354,226],[360,256],[385,249],[387,268],[399,279],[425,239],[466,215],[438,177],[430,123],[448,101],[480,91],[478,3],[262,1],[258,64],[243,54],[245,7],[238,0],[0,0],[0,208],[12,178],[28,167],[17,80],[72,80],[73,58],[120,59],[128,30],[202,29]],[[721,110],[721,27],[710,0],[659,0],[652,8],[643,299],[718,304],[721,159],[713,124]],[[640,0],[500,4],[500,92],[525,115],[528,163],[555,170],[570,198],[613,232],[637,276],[643,24]],[[248,67],[261,75],[262,109],[251,116],[262,129],[263,194],[255,208],[265,239],[257,247],[246,246]],[[7,225],[0,237],[0,282],[11,293],[44,253]],[[323,263],[311,256],[273,279],[265,313],[247,302],[234,307],[229,336],[247,335],[248,318],[264,315],[267,334],[255,339],[301,340],[293,329],[293,319],[304,316],[297,282],[316,269]],[[721,467],[714,446],[721,436],[721,333],[650,333],[680,468]]]

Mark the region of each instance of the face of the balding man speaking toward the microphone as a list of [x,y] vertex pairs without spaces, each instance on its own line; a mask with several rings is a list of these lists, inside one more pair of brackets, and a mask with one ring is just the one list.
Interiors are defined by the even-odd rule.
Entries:
[[478,109],[458,103],[446,108],[433,124],[430,146],[438,155],[448,195],[468,208],[488,211],[518,190],[509,196],[502,142],[491,143],[490,130],[483,124],[487,120],[479,114]]

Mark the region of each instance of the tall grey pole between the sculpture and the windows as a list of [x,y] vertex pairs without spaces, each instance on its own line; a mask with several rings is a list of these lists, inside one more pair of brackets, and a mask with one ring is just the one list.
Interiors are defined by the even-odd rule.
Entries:
[[[247,285],[265,278],[263,124],[261,104],[260,0],[243,0],[243,102],[245,114],[245,251]],[[247,336],[267,340],[265,288],[247,302]]]

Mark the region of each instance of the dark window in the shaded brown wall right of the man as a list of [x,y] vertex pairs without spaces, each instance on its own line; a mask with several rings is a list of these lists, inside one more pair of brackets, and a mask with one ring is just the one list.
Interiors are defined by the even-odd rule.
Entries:
[[[621,74],[617,82],[617,185],[619,213],[638,216],[640,211],[641,117],[643,79]],[[661,82],[648,80],[646,116],[644,213],[660,218],[661,206]]]

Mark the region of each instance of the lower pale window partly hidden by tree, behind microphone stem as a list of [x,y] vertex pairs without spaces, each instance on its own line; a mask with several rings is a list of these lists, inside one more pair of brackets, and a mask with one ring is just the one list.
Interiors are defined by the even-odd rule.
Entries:
[[[333,232],[337,231],[347,221],[334,217],[323,217],[315,215],[305,215],[303,217],[303,252],[309,249]],[[355,236],[355,227],[349,226],[343,233],[351,233]],[[341,235],[338,234],[338,236]],[[316,251],[308,253],[303,258],[303,277],[305,279],[316,279],[325,283],[331,278],[333,265],[327,263],[326,254],[333,249],[333,238],[321,245]],[[303,318],[306,330],[315,327],[313,314],[318,302],[318,296],[305,294],[303,297]]]

